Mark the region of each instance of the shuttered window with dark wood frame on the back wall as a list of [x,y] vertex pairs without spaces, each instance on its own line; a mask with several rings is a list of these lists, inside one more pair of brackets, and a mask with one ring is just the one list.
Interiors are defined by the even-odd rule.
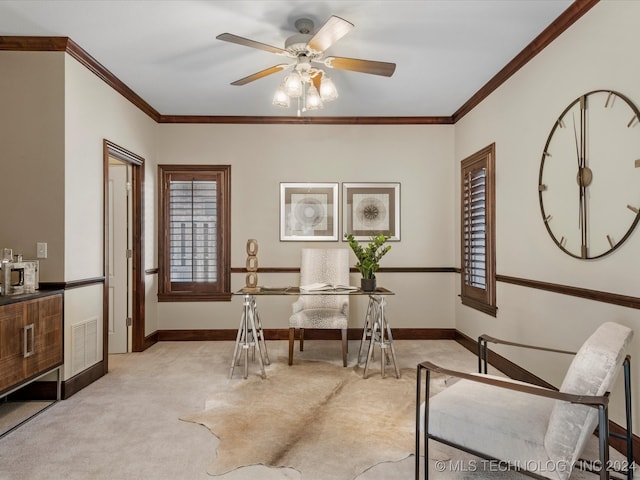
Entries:
[[231,299],[229,165],[160,165],[158,299]]

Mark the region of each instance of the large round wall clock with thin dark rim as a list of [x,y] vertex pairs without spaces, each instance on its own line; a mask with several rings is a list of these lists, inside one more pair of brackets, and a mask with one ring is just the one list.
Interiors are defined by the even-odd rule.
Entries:
[[640,218],[638,108],[611,90],[571,102],[544,147],[538,197],[563,252],[594,259],[622,245]]

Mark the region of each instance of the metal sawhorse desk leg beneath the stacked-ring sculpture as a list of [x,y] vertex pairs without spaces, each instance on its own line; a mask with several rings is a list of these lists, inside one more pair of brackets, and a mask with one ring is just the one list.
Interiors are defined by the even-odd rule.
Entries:
[[249,376],[249,349],[253,352],[255,359],[255,350],[258,350],[258,363],[260,364],[260,372],[262,378],[266,378],[264,365],[269,365],[269,354],[267,353],[267,345],[264,341],[264,332],[262,331],[262,323],[258,314],[255,295],[243,295],[242,317],[240,318],[240,326],[236,335],[236,344],[233,349],[233,358],[231,359],[231,369],[229,370],[229,378],[233,377],[233,371],[240,363],[240,357],[244,352],[244,378]]

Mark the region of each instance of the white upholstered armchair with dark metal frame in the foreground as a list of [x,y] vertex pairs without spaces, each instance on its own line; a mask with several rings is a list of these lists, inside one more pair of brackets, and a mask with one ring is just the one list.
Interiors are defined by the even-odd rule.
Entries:
[[[591,464],[609,465],[609,391],[622,365],[625,370],[626,429],[629,432],[626,436],[627,462],[633,461],[630,363],[629,357],[625,357],[632,334],[623,325],[602,324],[575,354],[559,391],[421,363],[417,375],[415,478],[419,477],[421,437],[425,479],[429,473],[429,439],[486,460],[500,461],[502,467],[508,465],[535,478],[566,480],[598,427],[599,459]],[[426,372],[425,402],[420,394],[423,371]],[[429,372],[460,380],[429,399]],[[601,479],[609,478],[608,469],[598,470]],[[622,473],[631,479],[633,469]]]

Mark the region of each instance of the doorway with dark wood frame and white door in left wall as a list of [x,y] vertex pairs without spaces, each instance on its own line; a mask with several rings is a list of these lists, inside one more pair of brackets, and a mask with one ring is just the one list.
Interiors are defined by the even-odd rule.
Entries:
[[103,364],[145,342],[142,185],[144,159],[108,140],[104,160]]

